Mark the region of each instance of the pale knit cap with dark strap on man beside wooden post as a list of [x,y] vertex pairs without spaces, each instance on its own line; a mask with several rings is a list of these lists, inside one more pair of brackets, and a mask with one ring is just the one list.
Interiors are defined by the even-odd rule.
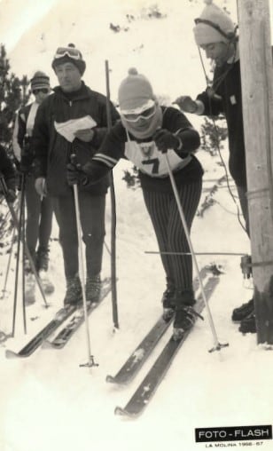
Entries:
[[[196,44],[228,43],[230,41],[229,35],[232,36],[235,31],[234,23],[230,19],[230,16],[211,0],[207,0],[206,3],[207,6],[205,6],[199,19],[196,20],[196,27],[193,28]],[[206,20],[212,22],[212,25],[206,23]],[[216,28],[219,27],[220,30],[214,28],[213,24]]]

